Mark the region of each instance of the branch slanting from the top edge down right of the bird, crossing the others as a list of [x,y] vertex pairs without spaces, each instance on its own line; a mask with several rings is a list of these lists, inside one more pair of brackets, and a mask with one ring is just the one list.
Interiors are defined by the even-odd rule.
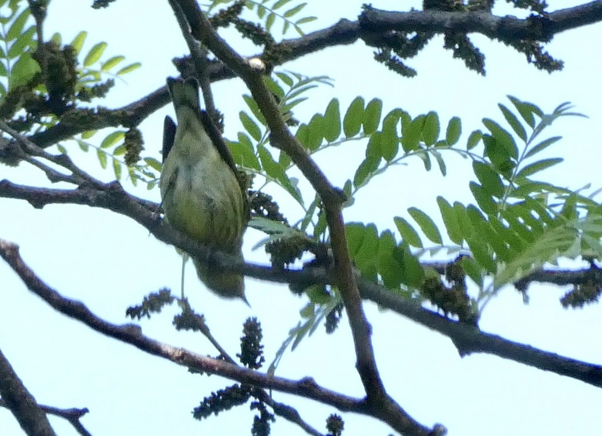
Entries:
[[[382,402],[385,397],[385,388],[376,367],[376,359],[370,340],[370,329],[368,321],[362,309],[361,297],[355,283],[355,277],[351,268],[349,252],[347,251],[347,239],[341,214],[343,197],[338,189],[330,184],[326,175],[311,159],[305,148],[291,134],[282,119],[278,104],[272,93],[268,90],[263,77],[255,69],[249,66],[228,43],[225,42],[214,31],[209,21],[200,11],[196,1],[179,1],[191,33],[202,42],[222,62],[228,65],[249,88],[253,99],[257,102],[259,110],[264,115],[270,128],[270,142],[291,157],[297,168],[305,175],[320,195],[324,209],[326,210],[326,221],[330,230],[330,239],[334,253],[335,271],[337,274],[337,285],[341,289],[343,302],[349,315],[349,323],[352,330],[353,342],[357,357],[357,368],[364,384],[368,401]],[[409,415],[399,409],[401,414],[408,420],[408,428],[403,433],[409,432],[415,426],[420,426]]]

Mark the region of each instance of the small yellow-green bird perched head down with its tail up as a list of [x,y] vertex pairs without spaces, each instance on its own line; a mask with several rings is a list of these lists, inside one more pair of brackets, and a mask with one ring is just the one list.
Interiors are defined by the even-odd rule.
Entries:
[[[222,134],[200,109],[194,79],[167,78],[178,125],[165,117],[161,200],[167,222],[209,248],[243,259],[243,233],[249,221],[244,181]],[[206,259],[195,259],[199,279],[226,299],[242,299],[244,278],[214,270]]]

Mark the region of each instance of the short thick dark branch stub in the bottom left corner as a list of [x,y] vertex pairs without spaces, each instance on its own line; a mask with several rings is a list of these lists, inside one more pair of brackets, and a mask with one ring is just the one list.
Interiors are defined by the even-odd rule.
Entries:
[[[0,239],[0,244],[1,241]],[[13,412],[25,434],[56,436],[45,412],[23,385],[2,350],[0,350],[0,396],[4,405]]]

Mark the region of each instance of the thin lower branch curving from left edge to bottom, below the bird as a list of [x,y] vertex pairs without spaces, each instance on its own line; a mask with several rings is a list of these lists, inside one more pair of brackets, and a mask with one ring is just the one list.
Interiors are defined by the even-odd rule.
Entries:
[[[50,288],[33,270],[29,268],[20,257],[17,245],[0,239],[0,256],[17,273],[27,288],[42,298],[52,308],[74,318],[88,327],[96,330],[111,338],[131,344],[138,349],[168,359],[176,364],[193,368],[197,371],[204,371],[210,374],[218,374],[222,377],[238,381],[244,384],[250,384],[261,388],[270,388],[273,390],[293,394],[299,397],[312,399],[323,404],[334,406],[340,411],[355,412],[364,415],[379,417],[391,428],[399,432],[407,430],[405,423],[396,420],[397,415],[389,412],[386,405],[370,404],[364,399],[356,399],[335,391],[328,390],[319,386],[312,378],[303,378],[299,381],[285,379],[281,377],[268,376],[267,374],[252,371],[247,368],[232,365],[220,359],[213,359],[202,356],[188,350],[170,346],[168,344],[155,341],[142,334],[140,326],[135,324],[117,324],[108,323],[102,318],[97,317],[83,303],[76,300],[67,299],[54,289]],[[432,432],[424,427],[415,428],[408,433],[415,436],[429,436]]]

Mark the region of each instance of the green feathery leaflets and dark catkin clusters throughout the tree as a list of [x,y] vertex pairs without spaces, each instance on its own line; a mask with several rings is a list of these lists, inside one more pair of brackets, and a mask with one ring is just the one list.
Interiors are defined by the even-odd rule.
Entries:
[[[107,7],[110,3],[95,1],[93,7]],[[470,22],[474,17],[487,17],[489,21],[495,21],[497,17],[491,14],[493,3],[425,1],[424,11],[392,13],[405,14],[397,16],[397,22],[395,16],[366,5],[358,25],[364,25],[364,30],[368,30],[373,28],[374,22],[388,22],[389,28],[381,28],[380,33],[374,31],[362,36],[376,48],[374,59],[377,62],[402,75],[412,76],[416,72],[405,65],[405,60],[418,54],[436,33],[441,33],[439,18],[464,17]],[[528,37],[509,39],[500,28],[497,38],[523,52],[538,68],[548,71],[562,68],[562,62],[551,58],[542,48],[542,43],[550,39],[548,33],[553,28],[550,30],[552,25],[548,21],[554,13],[548,13],[545,2],[512,3],[530,11],[531,15],[520,23],[529,31]],[[141,341],[140,348],[185,364],[191,372],[217,373],[237,381],[237,384],[208,394],[194,408],[194,418],[206,419],[212,414],[250,403],[256,413],[253,435],[269,434],[270,423],[277,415],[302,426],[310,434],[321,434],[309,427],[296,411],[291,411],[290,406],[276,403],[264,390],[273,388],[311,397],[341,410],[372,414],[403,434],[443,434],[442,426],[427,429],[399,406],[396,412],[389,412],[391,408],[387,407],[397,403],[386,394],[386,381],[378,378],[367,323],[358,304],[360,293],[370,299],[368,295],[373,294],[369,290],[377,289],[393,299],[389,308],[406,316],[417,311],[417,315],[412,315],[413,319],[420,318],[422,321],[419,322],[429,327],[438,323],[436,328],[450,337],[456,329],[453,331],[470,331],[479,340],[488,341],[491,338],[479,331],[479,318],[500,289],[514,286],[527,300],[529,283],[542,280],[534,277],[545,277],[546,273],[552,277],[553,267],[560,259],[583,258],[590,261],[591,267],[581,271],[582,276],[573,276],[574,289],[562,298],[561,303],[577,307],[597,302],[601,282],[595,261],[602,257],[602,206],[596,196],[600,189],[594,186],[592,191],[588,185],[574,190],[557,186],[545,178],[546,169],[563,162],[560,153],[550,155],[556,150],[552,147],[561,144],[562,138],[548,136],[548,127],[561,123],[567,116],[584,116],[574,112],[569,103],[547,109],[509,95],[507,101],[498,104],[497,115],[483,118],[482,125],[467,127],[467,122],[463,125],[458,116],[441,119],[436,108],[427,113],[412,114],[408,108],[396,107],[384,113],[386,101],[360,95],[347,107],[342,107],[334,98],[307,119],[297,119],[295,110],[306,104],[310,90],[333,86],[329,77],[308,77],[281,66],[291,58],[294,44],[289,42],[287,46],[276,42],[276,33],[281,36],[296,33],[301,42],[317,38],[303,30],[305,24],[316,19],[305,14],[305,2],[214,0],[203,8],[205,14],[197,14],[194,1],[173,0],[170,4],[176,16],[181,14],[190,25],[190,34],[186,29],[185,36],[196,37],[216,55],[216,58],[200,61],[213,66],[223,62],[249,85],[250,93],[242,96],[246,107],[239,113],[244,130],[235,137],[226,137],[226,141],[234,162],[249,180],[253,211],[250,226],[265,234],[255,248],[265,248],[272,268],[262,269],[255,265],[253,269],[253,265],[241,265],[228,256],[212,254],[206,247],[194,247],[189,242],[186,245],[187,242],[182,242],[185,236],[161,222],[160,205],[123,191],[119,182],[124,186],[144,183],[149,190],[156,188],[160,182],[161,163],[152,157],[153,153],[141,155],[144,141],[137,125],[144,116],[140,113],[132,116],[126,110],[107,110],[96,106],[96,102],[110,92],[116,78],[141,65],[125,62],[121,55],[105,54],[111,52],[107,43],[90,43],[85,31],[70,43],[63,43],[60,34],[43,39],[48,1],[0,1],[7,11],[0,17],[3,42],[0,46],[4,47],[0,49],[0,111],[7,120],[0,123],[0,128],[8,134],[0,147],[0,160],[13,166],[29,163],[45,172],[49,180],[67,182],[75,188],[38,189],[3,180],[0,196],[28,200],[36,207],[50,203],[106,207],[135,217],[157,238],[170,241],[188,253],[196,250],[196,253],[216,256],[216,268],[240,270],[249,276],[286,282],[291,292],[306,296],[307,303],[300,311],[299,320],[290,326],[276,355],[270,356],[273,359],[265,374],[259,373],[265,356],[258,320],[250,318],[243,326],[241,350],[235,355],[239,364],[211,336],[204,316],[194,312],[184,296],[175,297],[169,289],[147,295],[141,305],[128,308],[126,314],[140,320],[154,316],[167,305],[178,305],[181,311],[173,319],[176,329],[205,335],[219,352],[216,358],[203,361],[191,355],[162,355],[158,351],[149,351],[154,350],[154,343],[141,338],[141,333],[134,330],[111,333],[113,330],[109,327],[102,327],[102,332],[120,340],[134,341],[128,335],[135,336]],[[430,17],[432,29],[425,30],[421,27],[423,24],[408,27],[415,14],[424,14],[424,19]],[[485,26],[486,20],[483,21]],[[453,20],[450,23],[453,24]],[[509,23],[520,29],[518,23],[511,20]],[[261,74],[250,68],[249,62],[237,63],[229,58],[229,46],[214,37],[211,29],[230,25],[242,37],[264,48],[258,57]],[[482,29],[483,33],[488,31],[486,27]],[[485,74],[485,57],[468,39],[467,31],[461,28],[445,31],[444,48],[451,49],[453,57],[464,60],[468,69]],[[191,57],[176,59],[175,65],[183,76],[210,81],[207,72],[196,71],[195,65],[200,65],[200,61],[194,57],[193,52]],[[267,98],[258,98],[262,95]],[[205,95],[205,98],[211,96]],[[149,103],[144,115],[154,112],[152,104],[157,103]],[[98,133],[107,125],[121,127],[101,139]],[[349,168],[344,185],[335,188],[324,181],[317,166],[312,166],[313,158],[324,150],[351,141],[365,144],[365,158],[357,168]],[[76,166],[70,157],[75,148],[96,153],[102,168],[111,167],[115,182],[101,183]],[[403,204],[397,215],[390,217],[389,228],[382,229],[374,223],[343,223],[342,218],[338,218],[341,209],[352,207],[358,192],[371,186],[384,172],[396,171],[402,165],[421,165],[425,171],[434,168],[445,176],[449,157],[456,155],[465,159],[466,171],[473,174],[470,203],[451,203],[441,196],[432,198],[439,216],[429,216],[414,205]],[[291,175],[297,170],[312,182],[314,190],[309,194],[299,188],[299,180]],[[266,188],[274,185],[303,210],[299,220],[291,220],[288,211],[281,209],[282,198],[276,201],[267,194]],[[2,242],[0,248],[2,256],[17,274],[31,278],[34,273],[29,271],[26,275],[23,272],[25,266],[19,263],[19,254],[12,245]],[[50,292],[39,283],[35,285],[23,280],[40,295]],[[553,279],[548,281],[553,282]],[[102,324],[85,311],[70,309],[67,300],[64,301],[63,306],[54,306],[55,309],[88,325]],[[378,302],[387,307],[385,300]],[[311,380],[286,385],[284,379],[276,377],[278,362],[288,347],[294,350],[323,324],[326,332],[335,332],[343,313],[349,317],[356,350],[365,351],[364,354],[358,351],[357,356],[358,371],[366,390],[364,399],[349,404],[345,403],[348,397],[324,393]],[[504,352],[497,353],[503,355]],[[512,353],[505,357],[528,361]],[[545,359],[545,352],[541,352],[540,357]],[[541,367],[547,369],[544,364]],[[591,369],[600,370],[596,365],[591,365]],[[576,369],[574,378],[584,380],[577,373],[582,374]],[[598,376],[588,382],[600,387],[601,380]],[[7,391],[0,390],[0,393],[5,402],[10,403],[5,398]],[[366,404],[372,409],[367,411],[362,406]],[[330,415],[326,426],[328,434],[341,435],[343,428],[343,419],[339,415]]]

